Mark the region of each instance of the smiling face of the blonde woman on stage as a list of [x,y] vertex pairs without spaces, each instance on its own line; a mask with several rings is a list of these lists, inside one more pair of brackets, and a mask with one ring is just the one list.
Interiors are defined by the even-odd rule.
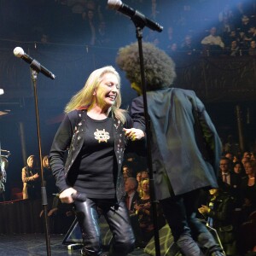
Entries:
[[105,73],[102,76],[102,82],[95,89],[94,95],[98,107],[112,107],[119,95],[119,79],[113,73]]

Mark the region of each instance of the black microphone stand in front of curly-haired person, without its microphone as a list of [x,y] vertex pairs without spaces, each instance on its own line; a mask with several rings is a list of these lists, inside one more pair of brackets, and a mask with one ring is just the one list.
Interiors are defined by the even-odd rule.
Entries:
[[143,108],[144,108],[144,117],[146,123],[146,136],[147,136],[147,164],[148,164],[148,174],[149,174],[149,192],[150,192],[150,201],[152,203],[153,210],[153,221],[154,221],[154,249],[155,256],[160,256],[160,237],[159,237],[159,225],[157,221],[157,204],[158,201],[155,200],[155,190],[154,190],[154,177],[153,177],[153,167],[152,167],[152,154],[151,154],[151,142],[150,142],[150,123],[148,116],[148,102],[147,102],[147,87],[145,82],[145,69],[144,69],[144,60],[143,60],[143,27],[145,26],[145,20],[141,19],[140,16],[134,15],[131,20],[136,26],[136,37],[139,49],[139,58],[140,58],[140,67],[141,67],[141,78],[143,85]]

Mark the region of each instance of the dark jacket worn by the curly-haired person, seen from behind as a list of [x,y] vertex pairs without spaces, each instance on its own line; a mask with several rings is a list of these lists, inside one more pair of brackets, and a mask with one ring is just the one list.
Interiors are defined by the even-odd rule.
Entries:
[[[152,132],[152,164],[159,200],[204,187],[218,187],[221,143],[203,103],[192,90],[167,88],[147,92]],[[195,138],[195,114],[212,150],[212,164],[204,159]],[[145,130],[143,97],[131,105],[134,127]],[[200,132],[199,132],[200,133]]]

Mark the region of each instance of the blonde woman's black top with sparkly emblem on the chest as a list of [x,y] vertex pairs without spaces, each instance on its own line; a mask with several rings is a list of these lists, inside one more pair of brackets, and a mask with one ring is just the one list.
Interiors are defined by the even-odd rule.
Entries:
[[113,119],[91,119],[86,115],[84,144],[79,172],[73,188],[89,198],[114,198],[117,165],[113,150]]

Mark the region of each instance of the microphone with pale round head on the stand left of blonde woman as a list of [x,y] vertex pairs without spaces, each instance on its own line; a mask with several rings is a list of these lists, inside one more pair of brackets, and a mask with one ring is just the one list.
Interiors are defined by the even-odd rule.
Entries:
[[26,61],[26,63],[30,64],[30,66],[37,72],[44,73],[44,75],[49,79],[55,79],[55,75],[53,73],[51,73],[46,67],[42,66],[38,61],[33,59],[30,55],[27,55],[21,47],[16,47],[14,49],[14,55]]

